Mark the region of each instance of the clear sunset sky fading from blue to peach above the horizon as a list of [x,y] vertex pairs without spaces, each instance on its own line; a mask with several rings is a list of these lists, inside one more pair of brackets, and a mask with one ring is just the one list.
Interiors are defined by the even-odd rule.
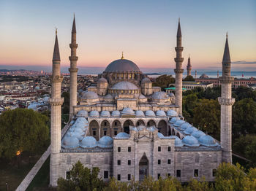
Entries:
[[51,66],[58,28],[61,66],[69,66],[73,13],[78,67],[124,58],[140,68],[173,69],[178,17],[183,67],[221,69],[228,31],[233,69],[256,71],[255,0],[0,0],[0,66]]

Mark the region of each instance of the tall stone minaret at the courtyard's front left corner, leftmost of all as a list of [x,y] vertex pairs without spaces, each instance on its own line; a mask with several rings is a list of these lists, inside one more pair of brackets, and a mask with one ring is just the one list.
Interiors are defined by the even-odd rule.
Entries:
[[59,56],[59,44],[56,30],[56,39],[53,50],[53,74],[51,77],[50,103],[50,186],[57,186],[59,169],[59,152],[61,150],[61,58]]

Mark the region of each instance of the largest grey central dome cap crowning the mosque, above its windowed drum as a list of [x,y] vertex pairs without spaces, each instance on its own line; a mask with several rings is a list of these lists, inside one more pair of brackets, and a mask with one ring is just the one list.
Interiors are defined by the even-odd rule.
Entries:
[[119,59],[113,61],[112,63],[108,64],[107,68],[105,69],[105,73],[113,73],[113,72],[140,72],[139,67],[132,61],[127,59]]

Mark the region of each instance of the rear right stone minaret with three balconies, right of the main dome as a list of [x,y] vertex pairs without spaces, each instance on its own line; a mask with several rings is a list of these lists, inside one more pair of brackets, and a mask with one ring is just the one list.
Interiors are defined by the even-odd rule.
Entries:
[[178,19],[178,31],[177,31],[177,46],[176,50],[176,58],[174,61],[176,62],[175,72],[175,85],[176,85],[176,101],[175,104],[178,106],[178,114],[182,116],[182,73],[184,69],[182,69],[182,62],[184,58],[182,58],[183,47],[181,47],[181,24],[180,19]]

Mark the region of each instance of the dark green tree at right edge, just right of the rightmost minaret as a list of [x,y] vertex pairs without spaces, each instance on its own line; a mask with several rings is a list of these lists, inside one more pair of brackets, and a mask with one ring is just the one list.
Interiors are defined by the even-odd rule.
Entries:
[[233,106],[233,133],[238,137],[240,134],[256,134],[256,102],[252,98],[244,98]]

